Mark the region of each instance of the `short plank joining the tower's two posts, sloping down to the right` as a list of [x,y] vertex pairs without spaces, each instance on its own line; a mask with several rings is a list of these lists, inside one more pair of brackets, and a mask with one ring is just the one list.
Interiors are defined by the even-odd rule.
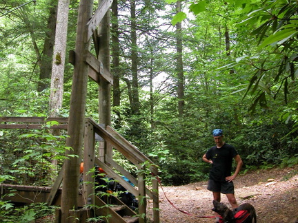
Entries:
[[[92,78],[94,81],[99,83],[99,74],[105,79],[108,83],[111,85],[113,84],[113,77],[112,74],[106,69],[106,67],[103,67],[102,63],[97,60],[95,56],[88,50],[85,52],[84,60],[88,65],[90,65],[91,69],[95,72],[90,72],[90,78]],[[98,76],[98,77],[97,77]]]

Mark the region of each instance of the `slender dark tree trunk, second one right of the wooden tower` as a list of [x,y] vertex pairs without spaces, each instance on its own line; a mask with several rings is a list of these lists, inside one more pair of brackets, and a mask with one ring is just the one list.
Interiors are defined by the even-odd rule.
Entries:
[[135,0],[130,0],[130,38],[131,62],[132,62],[132,114],[139,114],[139,80],[137,75],[137,23]]

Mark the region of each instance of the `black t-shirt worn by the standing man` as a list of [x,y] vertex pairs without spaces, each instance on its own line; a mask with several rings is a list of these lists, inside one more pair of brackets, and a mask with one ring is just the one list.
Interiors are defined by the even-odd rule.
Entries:
[[206,152],[206,158],[213,162],[209,174],[210,180],[225,181],[227,176],[231,176],[232,158],[237,155],[236,149],[227,143],[219,149],[216,146],[211,147]]

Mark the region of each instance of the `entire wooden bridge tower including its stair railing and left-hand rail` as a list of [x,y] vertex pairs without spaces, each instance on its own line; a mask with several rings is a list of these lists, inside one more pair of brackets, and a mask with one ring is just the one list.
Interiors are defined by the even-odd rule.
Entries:
[[[34,195],[34,199],[47,202],[49,205],[61,205],[56,213],[57,223],[78,222],[83,223],[91,215],[100,215],[106,222],[110,223],[127,223],[127,222],[147,222],[146,211],[149,197],[152,199],[152,222],[159,223],[159,195],[157,182],[157,167],[152,161],[143,155],[133,145],[117,134],[110,127],[110,87],[112,85],[112,74],[110,74],[110,15],[109,9],[112,0],[101,0],[99,7],[93,14],[93,1],[80,1],[79,15],[77,19],[77,39],[75,50],[70,52],[70,63],[74,65],[74,74],[72,78],[72,94],[70,98],[70,114],[67,120],[56,118],[62,122],[61,125],[54,128],[68,129],[68,138],[66,146],[72,150],[66,152],[69,156],[63,163],[62,171],[59,173],[57,180],[52,188],[45,189],[37,187],[26,187],[16,185],[1,184],[1,195],[9,193],[9,189],[17,189],[18,194],[10,197],[15,202],[28,202],[26,195],[34,190],[39,191],[39,195]],[[90,52],[90,45],[95,45],[97,56]],[[99,122],[85,117],[86,96],[88,78],[99,84]],[[55,120],[55,118],[51,118]],[[0,128],[3,129],[38,129],[46,120],[34,117],[0,117]],[[13,123],[13,124],[8,124]],[[15,124],[26,123],[26,124]],[[34,124],[28,124],[34,123]],[[39,123],[39,124],[36,124]],[[103,139],[103,146],[99,148],[99,158],[95,157],[95,134]],[[83,148],[83,156],[82,156]],[[137,178],[120,167],[112,159],[112,149],[117,149],[139,170]],[[95,195],[95,189],[92,184],[83,185],[83,193],[79,194],[79,166],[83,158],[84,173],[83,180],[92,182],[94,179],[91,174],[86,174],[97,164],[111,178],[117,180],[128,191],[139,199],[139,215],[123,205],[117,198],[112,200],[101,199]],[[146,164],[146,165],[145,165]],[[146,168],[148,167],[152,174],[152,190],[146,188]],[[122,176],[128,178],[137,189],[132,187]],[[62,190],[60,189],[63,180]],[[29,191],[28,191],[29,189]],[[61,194],[60,194],[61,193]],[[21,199],[21,200],[20,200]],[[30,199],[29,199],[30,200]],[[34,202],[34,200],[32,199]],[[61,202],[62,201],[62,202]],[[106,202],[112,202],[113,206],[107,206]],[[94,204],[100,208],[89,209],[83,204]],[[135,215],[135,216],[133,216]]]

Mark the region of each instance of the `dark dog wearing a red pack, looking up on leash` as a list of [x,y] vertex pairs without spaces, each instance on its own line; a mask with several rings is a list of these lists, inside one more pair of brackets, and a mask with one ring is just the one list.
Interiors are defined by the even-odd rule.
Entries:
[[222,217],[221,222],[232,223],[257,223],[255,208],[251,204],[241,204],[235,211],[231,211],[224,203],[213,200],[215,211]]

